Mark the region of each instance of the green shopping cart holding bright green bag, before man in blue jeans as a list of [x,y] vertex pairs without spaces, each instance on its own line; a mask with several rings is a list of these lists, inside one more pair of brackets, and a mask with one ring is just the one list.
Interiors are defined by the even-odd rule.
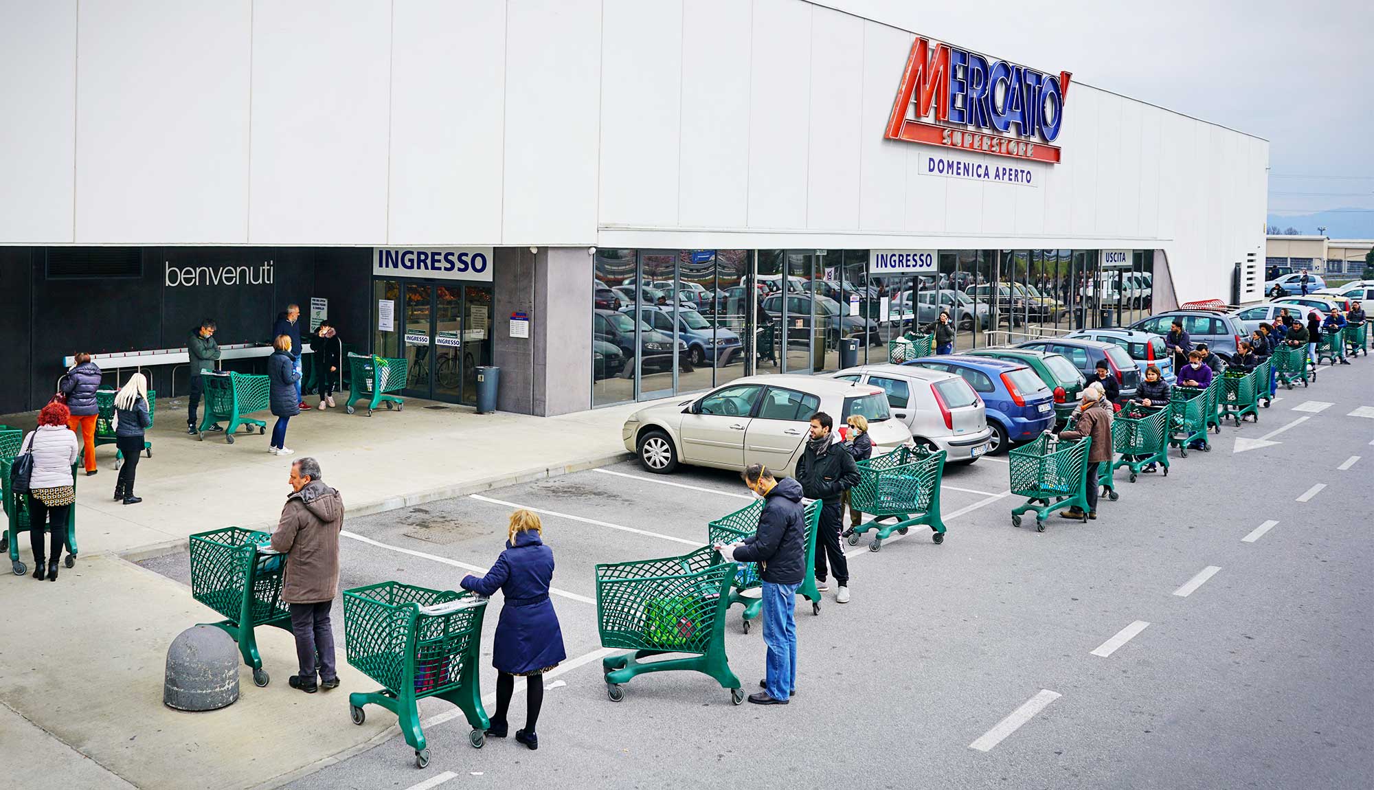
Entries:
[[[636,675],[673,669],[702,672],[730,690],[732,703],[745,701],[725,655],[725,609],[736,570],[709,545],[682,556],[596,566],[602,647],[629,648],[602,659],[611,702],[625,698],[622,684]],[[665,653],[691,655],[640,662]]]

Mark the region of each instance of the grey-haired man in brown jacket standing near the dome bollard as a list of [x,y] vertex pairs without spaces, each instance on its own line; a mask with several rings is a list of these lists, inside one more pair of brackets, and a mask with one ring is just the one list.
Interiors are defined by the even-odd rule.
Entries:
[[[330,609],[339,592],[339,530],[344,529],[344,497],[320,479],[320,464],[302,458],[291,464],[291,495],[272,533],[272,548],[286,554],[282,600],[291,606],[291,632],[301,673],[291,688],[315,694],[319,686],[339,684],[334,665],[334,631]],[[319,686],[315,680],[319,657]]]

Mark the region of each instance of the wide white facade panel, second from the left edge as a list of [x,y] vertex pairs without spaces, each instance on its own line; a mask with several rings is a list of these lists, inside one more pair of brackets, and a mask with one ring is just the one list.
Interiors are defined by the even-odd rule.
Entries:
[[247,1],[81,3],[77,243],[249,240],[250,18]]

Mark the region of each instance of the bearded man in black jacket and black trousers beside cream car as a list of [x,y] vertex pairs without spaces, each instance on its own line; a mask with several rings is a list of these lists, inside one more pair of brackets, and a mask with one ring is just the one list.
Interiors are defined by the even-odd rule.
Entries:
[[823,411],[811,415],[811,438],[797,459],[797,482],[808,499],[822,500],[820,526],[816,532],[816,589],[830,589],[826,584],[826,556],[835,572],[837,603],[849,603],[849,563],[840,548],[840,528],[845,515],[844,493],[859,485],[859,467],[833,433],[834,420]]

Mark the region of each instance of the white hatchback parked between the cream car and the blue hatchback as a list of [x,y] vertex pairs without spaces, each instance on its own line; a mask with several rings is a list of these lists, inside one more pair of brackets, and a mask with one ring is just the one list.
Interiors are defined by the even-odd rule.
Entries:
[[830,375],[882,387],[892,416],[911,429],[918,444],[945,451],[949,463],[974,462],[991,449],[987,408],[958,374],[882,363]]

